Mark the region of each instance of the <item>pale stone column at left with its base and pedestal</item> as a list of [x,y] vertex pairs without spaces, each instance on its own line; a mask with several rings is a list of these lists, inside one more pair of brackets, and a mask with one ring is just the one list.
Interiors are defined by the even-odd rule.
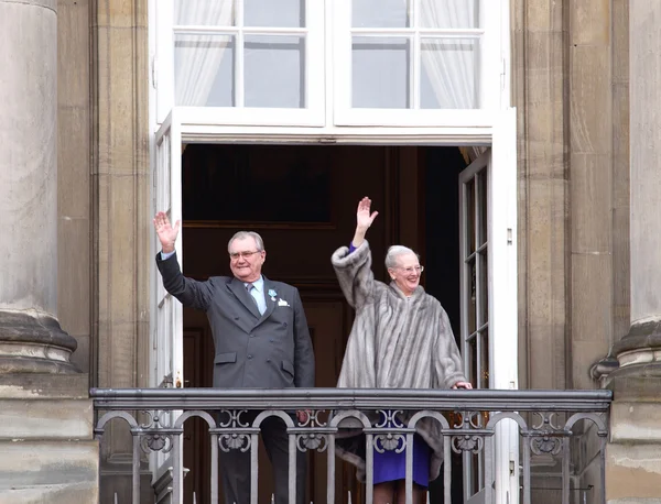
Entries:
[[88,376],[56,313],[57,0],[0,0],[0,502],[98,502]]

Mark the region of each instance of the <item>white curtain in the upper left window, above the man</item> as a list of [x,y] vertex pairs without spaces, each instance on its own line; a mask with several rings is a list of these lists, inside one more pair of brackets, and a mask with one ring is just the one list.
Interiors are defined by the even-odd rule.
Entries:
[[[228,26],[232,21],[234,0],[178,0],[174,4],[175,24]],[[229,35],[181,36],[185,36],[184,41],[175,41],[175,103],[204,107],[231,39]]]

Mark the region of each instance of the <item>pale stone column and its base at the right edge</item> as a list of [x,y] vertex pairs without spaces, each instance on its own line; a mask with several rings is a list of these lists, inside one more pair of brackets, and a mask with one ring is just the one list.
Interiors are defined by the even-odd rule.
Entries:
[[661,2],[629,2],[631,327],[617,375],[661,375]]

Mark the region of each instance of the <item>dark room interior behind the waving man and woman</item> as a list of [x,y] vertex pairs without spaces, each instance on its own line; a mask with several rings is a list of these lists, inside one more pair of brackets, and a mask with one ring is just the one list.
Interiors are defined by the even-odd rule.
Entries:
[[[231,275],[228,240],[241,229],[259,232],[267,250],[264,275],[292,284],[301,292],[315,351],[315,386],[334,387],[353,314],[337,284],[330,255],[338,246],[349,244],[356,227],[356,208],[362,196],[369,196],[373,209],[379,211],[368,234],[377,278],[383,280],[386,276],[383,258],[387,245],[394,240],[393,233],[411,226],[415,232],[410,233],[409,238],[418,237],[418,213],[413,215],[413,221],[409,221],[408,216],[402,222],[398,212],[401,204],[418,211],[416,185],[413,191],[404,190],[410,200],[400,198],[400,171],[413,180],[418,178],[416,157],[401,162],[402,155],[398,149],[386,146],[249,145],[237,149],[234,145],[187,145],[183,155],[184,217],[186,213],[188,217],[199,217],[201,213],[223,217],[224,213],[216,215],[213,207],[206,207],[202,212],[191,206],[186,209],[186,201],[206,198],[207,202],[224,208],[225,215],[230,215],[232,220],[184,220],[184,273],[197,278]],[[301,171],[306,169],[310,172],[301,176]],[[292,171],[297,179],[288,178]],[[317,174],[312,183],[327,184],[328,193],[310,186],[311,173]],[[206,193],[199,194],[195,188],[204,188]],[[322,204],[311,200],[311,194],[319,198]],[[251,199],[253,196],[254,200]],[[224,197],[227,201],[218,202]],[[293,213],[288,210],[292,204],[295,207]],[[328,208],[324,209],[324,204]],[[273,216],[291,216],[305,221],[308,216],[301,213],[305,211],[329,218],[321,222],[267,222]],[[245,219],[241,218],[243,215]],[[414,243],[411,245],[416,246]],[[206,316],[184,309],[184,328],[192,335],[189,348],[199,351],[197,357],[185,355],[185,380],[198,380],[189,386],[210,386],[214,348]],[[188,370],[192,371],[191,375]],[[204,462],[204,441],[203,448],[198,448],[205,434],[203,428],[193,428],[193,425],[187,427],[191,427],[187,450],[192,454],[188,467],[191,474],[196,475],[189,479],[185,492],[187,502],[192,502],[193,491],[199,502],[206,495],[208,482],[208,478],[205,478],[208,464]],[[263,449],[260,450],[260,495],[270,495],[273,491],[272,473]],[[325,453],[311,454],[310,501],[321,502],[325,498]],[[342,478],[336,480],[337,495],[346,495],[349,490],[354,495],[360,494],[353,471],[340,464],[338,474]]]

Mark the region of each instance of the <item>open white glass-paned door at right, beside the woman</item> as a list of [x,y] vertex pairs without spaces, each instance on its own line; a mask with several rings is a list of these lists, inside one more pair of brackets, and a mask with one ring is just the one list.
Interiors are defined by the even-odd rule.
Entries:
[[[462,354],[476,388],[518,387],[516,141],[511,109],[491,147],[459,175]],[[488,421],[487,413],[473,418],[478,428]],[[484,449],[464,452],[466,504],[519,502],[518,439],[512,421],[497,425],[489,471]]]

